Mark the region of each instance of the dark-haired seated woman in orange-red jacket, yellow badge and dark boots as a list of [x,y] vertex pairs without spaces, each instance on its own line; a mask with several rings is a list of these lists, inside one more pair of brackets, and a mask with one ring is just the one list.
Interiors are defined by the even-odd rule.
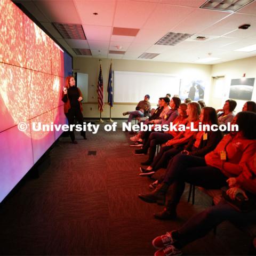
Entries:
[[165,219],[177,216],[176,208],[185,189],[185,182],[206,189],[220,189],[230,177],[240,179],[243,166],[256,151],[256,114],[239,112],[232,121],[239,126],[238,132],[230,132],[218,146],[204,158],[179,154],[173,158],[166,170],[161,185],[139,198],[148,203],[165,204],[165,195],[172,185],[171,198],[163,212],[156,213]]

